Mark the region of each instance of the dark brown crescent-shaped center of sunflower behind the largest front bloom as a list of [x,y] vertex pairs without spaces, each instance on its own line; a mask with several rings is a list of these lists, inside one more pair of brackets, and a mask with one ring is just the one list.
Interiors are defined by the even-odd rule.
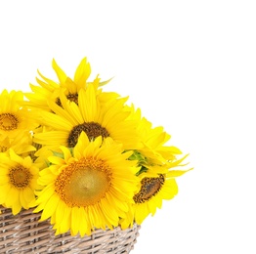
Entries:
[[73,127],[67,138],[69,148],[75,147],[81,132],[84,131],[89,140],[94,140],[99,136],[107,138],[109,133],[107,129],[97,122],[84,122]]

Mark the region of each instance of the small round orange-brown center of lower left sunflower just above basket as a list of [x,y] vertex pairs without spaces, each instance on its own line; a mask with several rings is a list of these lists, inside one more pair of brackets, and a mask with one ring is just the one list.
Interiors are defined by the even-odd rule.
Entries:
[[17,189],[24,189],[29,185],[32,174],[27,168],[22,165],[17,165],[10,169],[9,178],[13,187]]

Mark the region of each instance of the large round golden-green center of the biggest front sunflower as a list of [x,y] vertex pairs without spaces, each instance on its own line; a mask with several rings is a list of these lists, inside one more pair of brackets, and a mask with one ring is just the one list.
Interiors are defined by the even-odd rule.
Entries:
[[103,160],[82,158],[64,168],[55,182],[55,191],[69,207],[85,207],[105,197],[111,174]]

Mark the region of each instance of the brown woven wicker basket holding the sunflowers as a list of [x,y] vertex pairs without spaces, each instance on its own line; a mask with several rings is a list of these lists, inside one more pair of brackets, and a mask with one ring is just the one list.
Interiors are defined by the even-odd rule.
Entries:
[[55,235],[49,221],[38,222],[41,214],[32,209],[14,216],[11,209],[0,207],[0,253],[130,253],[140,226],[122,231],[97,230],[90,236]]

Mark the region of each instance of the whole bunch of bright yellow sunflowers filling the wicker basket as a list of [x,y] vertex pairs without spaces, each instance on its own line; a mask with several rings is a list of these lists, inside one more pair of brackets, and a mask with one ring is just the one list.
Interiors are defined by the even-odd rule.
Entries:
[[86,58],[73,79],[52,65],[58,81],[38,71],[30,92],[1,92],[0,206],[41,213],[56,234],[141,225],[177,194],[187,155],[128,98],[105,92],[110,80],[88,81]]

